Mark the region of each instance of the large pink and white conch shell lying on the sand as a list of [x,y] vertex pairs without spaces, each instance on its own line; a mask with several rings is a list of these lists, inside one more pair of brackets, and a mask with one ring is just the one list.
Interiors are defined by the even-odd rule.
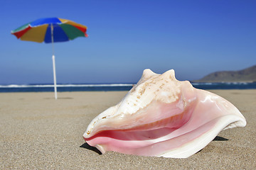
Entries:
[[206,147],[221,130],[244,127],[232,103],[178,81],[171,69],[142,78],[120,103],[97,115],[83,135],[87,144],[106,151],[186,158]]

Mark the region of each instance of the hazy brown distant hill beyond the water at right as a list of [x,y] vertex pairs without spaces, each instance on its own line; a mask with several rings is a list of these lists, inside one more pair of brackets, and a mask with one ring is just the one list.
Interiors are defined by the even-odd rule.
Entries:
[[213,72],[194,82],[256,81],[256,65],[239,71]]

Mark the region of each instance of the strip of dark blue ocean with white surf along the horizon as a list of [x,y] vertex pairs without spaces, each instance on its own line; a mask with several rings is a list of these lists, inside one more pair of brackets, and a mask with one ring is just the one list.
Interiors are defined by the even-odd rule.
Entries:
[[[193,83],[197,89],[256,89],[256,82]],[[134,84],[58,84],[57,91],[129,91]],[[53,84],[0,85],[0,93],[54,91]]]

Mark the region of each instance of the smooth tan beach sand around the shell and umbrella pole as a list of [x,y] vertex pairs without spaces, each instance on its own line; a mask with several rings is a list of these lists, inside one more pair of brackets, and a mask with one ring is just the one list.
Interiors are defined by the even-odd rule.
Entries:
[[[127,91],[0,93],[0,169],[255,169],[256,90],[212,90],[245,116],[187,159],[98,154],[82,138]],[[87,147],[87,148],[86,148]]]

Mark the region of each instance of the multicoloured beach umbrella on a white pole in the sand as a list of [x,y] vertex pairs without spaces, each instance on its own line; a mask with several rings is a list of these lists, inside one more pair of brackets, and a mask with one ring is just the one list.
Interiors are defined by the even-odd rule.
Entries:
[[40,18],[11,31],[11,34],[21,40],[52,43],[55,99],[57,99],[57,86],[53,42],[65,42],[68,40],[74,40],[78,37],[87,37],[86,30],[86,26],[67,19]]

